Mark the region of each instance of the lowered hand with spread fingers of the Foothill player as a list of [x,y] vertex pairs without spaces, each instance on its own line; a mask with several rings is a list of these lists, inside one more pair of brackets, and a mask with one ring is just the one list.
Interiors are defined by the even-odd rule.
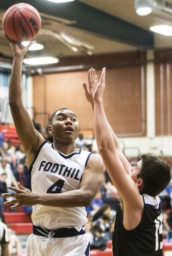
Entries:
[[[36,195],[33,194],[29,189],[24,188],[18,182],[18,188],[7,186],[8,189],[13,190],[16,193],[5,193],[2,194],[3,197],[15,197],[16,199],[12,199],[10,201],[4,202],[4,205],[15,204],[11,206],[11,209],[16,209],[20,206],[33,206],[36,204],[35,198]],[[17,203],[17,204],[16,204]]]

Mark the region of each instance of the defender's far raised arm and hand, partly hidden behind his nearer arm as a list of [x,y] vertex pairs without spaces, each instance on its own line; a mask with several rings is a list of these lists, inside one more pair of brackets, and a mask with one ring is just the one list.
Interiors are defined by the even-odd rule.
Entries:
[[[94,112],[93,94],[94,94],[94,91],[96,90],[97,84],[98,84],[98,76],[96,75],[96,70],[91,68],[88,71],[88,85],[84,82],[83,86],[84,86],[84,90],[85,90],[86,99],[88,100],[88,102],[90,102],[93,112]],[[108,120],[107,120],[107,122],[108,122]],[[119,156],[119,158],[125,168],[125,171],[127,172],[127,174],[129,174],[131,172],[131,164],[129,163],[127,158],[124,156],[124,154],[121,150],[121,147],[119,145],[118,139],[117,139],[115,133],[113,132],[109,123],[108,123],[108,125],[109,125],[109,129],[111,131],[113,140],[115,142],[115,148],[116,148],[117,155]]]

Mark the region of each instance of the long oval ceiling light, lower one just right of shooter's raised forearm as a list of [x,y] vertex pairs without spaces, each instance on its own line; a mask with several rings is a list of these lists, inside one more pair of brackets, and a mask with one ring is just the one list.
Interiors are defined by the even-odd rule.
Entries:
[[43,65],[43,64],[53,64],[59,62],[59,59],[52,57],[43,58],[30,58],[24,59],[23,62],[28,65]]

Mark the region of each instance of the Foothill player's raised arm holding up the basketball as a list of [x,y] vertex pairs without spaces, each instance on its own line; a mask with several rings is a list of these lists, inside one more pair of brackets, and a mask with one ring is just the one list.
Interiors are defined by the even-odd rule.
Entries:
[[13,55],[13,67],[9,84],[9,104],[16,132],[23,148],[28,156],[32,150],[32,154],[29,154],[29,162],[34,159],[34,154],[38,150],[40,144],[44,141],[43,136],[35,131],[33,122],[23,106],[22,102],[22,63],[23,57],[31,44],[23,46],[22,43],[10,42]]

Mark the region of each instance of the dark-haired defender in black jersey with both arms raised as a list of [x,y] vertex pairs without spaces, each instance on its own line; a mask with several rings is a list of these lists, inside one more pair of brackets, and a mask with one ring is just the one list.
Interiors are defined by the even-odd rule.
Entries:
[[113,232],[114,256],[162,256],[162,214],[158,194],[171,180],[170,166],[151,154],[131,167],[112,131],[103,108],[105,68],[100,81],[91,68],[86,98],[94,111],[98,150],[111,181],[121,196]]

